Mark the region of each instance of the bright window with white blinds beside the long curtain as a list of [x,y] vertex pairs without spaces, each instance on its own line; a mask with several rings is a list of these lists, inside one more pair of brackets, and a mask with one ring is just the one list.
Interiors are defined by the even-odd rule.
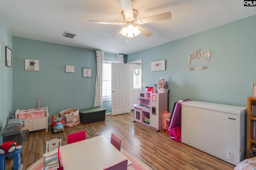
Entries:
[[114,61],[103,61],[102,78],[102,101],[111,100],[111,63]]

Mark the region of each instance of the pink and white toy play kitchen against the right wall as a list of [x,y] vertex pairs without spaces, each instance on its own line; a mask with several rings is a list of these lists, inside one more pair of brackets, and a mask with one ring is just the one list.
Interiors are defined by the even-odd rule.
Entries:
[[139,92],[139,104],[134,104],[136,122],[162,129],[162,115],[167,111],[167,93]]

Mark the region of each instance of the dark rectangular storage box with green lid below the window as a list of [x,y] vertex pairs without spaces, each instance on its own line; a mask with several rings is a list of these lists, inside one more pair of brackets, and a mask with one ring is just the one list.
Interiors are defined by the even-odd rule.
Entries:
[[106,116],[106,107],[80,109],[79,113],[82,124],[104,121]]

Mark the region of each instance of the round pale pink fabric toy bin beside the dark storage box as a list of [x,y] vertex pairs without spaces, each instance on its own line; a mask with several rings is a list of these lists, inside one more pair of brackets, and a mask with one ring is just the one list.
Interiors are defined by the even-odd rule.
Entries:
[[60,117],[66,127],[76,126],[80,123],[79,109],[77,108],[62,110],[60,112]]

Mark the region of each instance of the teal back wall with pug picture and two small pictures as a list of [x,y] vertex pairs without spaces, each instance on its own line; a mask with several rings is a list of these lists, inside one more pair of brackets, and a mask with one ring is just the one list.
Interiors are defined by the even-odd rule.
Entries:
[[[12,37],[13,110],[48,106],[50,115],[58,115],[67,108],[89,108],[94,104],[96,82],[96,53],[91,49],[58,45],[21,37]],[[104,58],[116,61],[115,54]],[[39,71],[27,71],[24,59],[39,60]],[[74,73],[65,66],[74,66]],[[92,68],[92,78],[82,78],[82,68]],[[103,102],[111,112],[111,104]],[[49,118],[50,121],[51,118]]]

